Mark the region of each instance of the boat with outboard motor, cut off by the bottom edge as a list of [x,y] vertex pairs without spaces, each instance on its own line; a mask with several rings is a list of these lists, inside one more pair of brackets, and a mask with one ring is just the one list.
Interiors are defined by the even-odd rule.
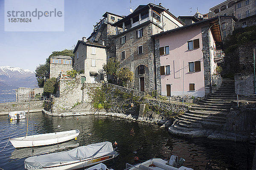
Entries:
[[178,157],[175,155],[172,155],[169,161],[160,158],[152,158],[137,165],[126,163],[125,170],[193,170],[192,168],[183,167],[182,164],[184,161],[185,159],[183,158],[178,160]]

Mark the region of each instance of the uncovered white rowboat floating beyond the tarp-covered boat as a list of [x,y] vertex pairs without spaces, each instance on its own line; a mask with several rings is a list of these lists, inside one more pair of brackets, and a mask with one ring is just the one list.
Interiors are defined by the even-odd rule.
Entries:
[[36,147],[69,141],[73,138],[76,138],[78,135],[79,130],[69,130],[64,132],[43,133],[39,135],[29,135],[18,138],[10,138],[9,141],[15,148]]

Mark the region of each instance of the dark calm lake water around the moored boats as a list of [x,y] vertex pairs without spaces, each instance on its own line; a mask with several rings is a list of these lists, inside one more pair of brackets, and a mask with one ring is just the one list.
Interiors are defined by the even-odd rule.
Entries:
[[[247,158],[251,166],[254,146],[232,141],[217,141],[206,138],[182,138],[170,135],[166,130],[154,124],[132,122],[108,116],[51,117],[41,112],[32,113],[29,118],[29,134],[52,133],[71,129],[80,130],[77,141],[68,141],[59,145],[15,149],[8,144],[0,153],[0,169],[24,170],[24,159],[38,153],[58,152],[78,146],[102,141],[116,141],[120,155],[113,161],[105,162],[114,170],[125,169],[125,163],[137,164],[134,160],[150,158],[168,159],[177,155],[186,159],[183,164],[194,170],[208,169],[211,164],[220,170],[246,170]],[[61,128],[57,126],[61,125]],[[0,150],[8,138],[26,135],[26,121],[12,121],[6,115],[0,115]],[[5,143],[3,143],[5,142]]]

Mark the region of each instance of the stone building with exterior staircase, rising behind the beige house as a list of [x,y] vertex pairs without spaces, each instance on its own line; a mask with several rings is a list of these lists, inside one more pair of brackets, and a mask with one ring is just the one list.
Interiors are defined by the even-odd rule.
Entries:
[[112,24],[125,16],[106,12],[102,17],[104,18],[101,19],[99,23],[96,23],[93,32],[87,40],[106,46],[107,57],[112,58],[116,56],[115,39],[113,38],[113,36],[116,35],[116,27],[112,26]]

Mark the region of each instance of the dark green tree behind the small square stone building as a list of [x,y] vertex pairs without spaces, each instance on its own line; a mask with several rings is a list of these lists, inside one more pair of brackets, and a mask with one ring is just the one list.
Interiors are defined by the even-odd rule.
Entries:
[[44,87],[44,77],[49,78],[49,72],[50,72],[50,57],[58,56],[58,55],[64,55],[64,56],[70,56],[74,57],[73,50],[72,49],[64,49],[63,51],[54,51],[49,56],[49,58],[46,59],[46,62],[44,64],[39,64],[38,67],[35,69],[35,77],[38,81],[39,87]]

